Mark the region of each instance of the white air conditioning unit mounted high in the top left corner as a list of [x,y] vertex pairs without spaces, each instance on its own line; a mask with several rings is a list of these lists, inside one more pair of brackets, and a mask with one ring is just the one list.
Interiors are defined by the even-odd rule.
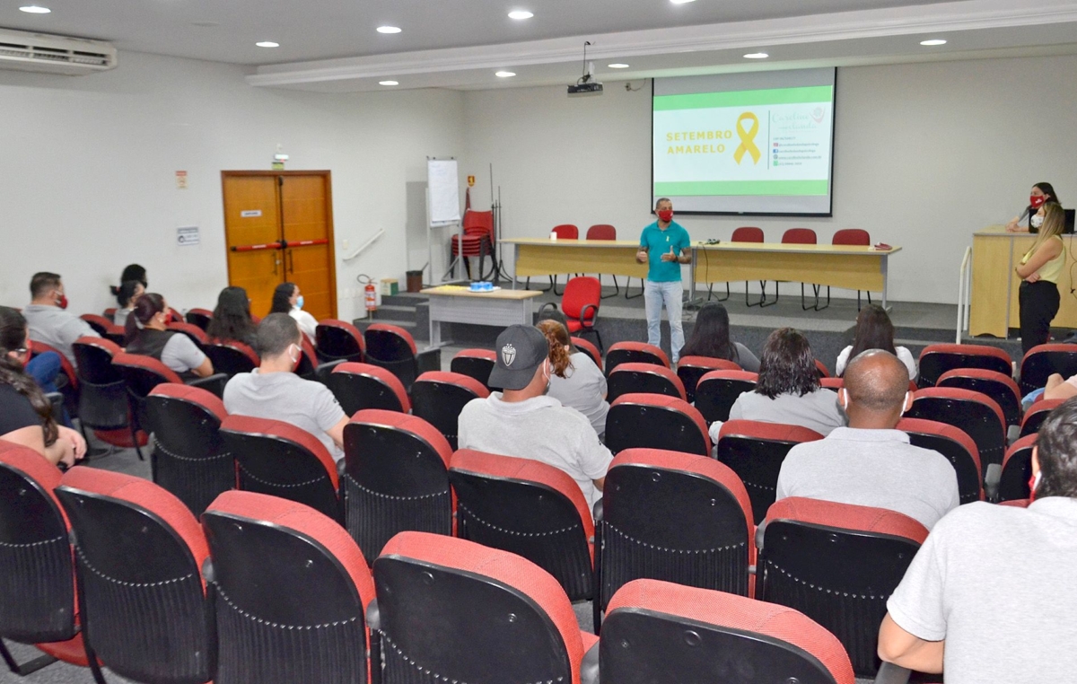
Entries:
[[116,64],[111,43],[0,29],[0,69],[78,76],[115,69]]

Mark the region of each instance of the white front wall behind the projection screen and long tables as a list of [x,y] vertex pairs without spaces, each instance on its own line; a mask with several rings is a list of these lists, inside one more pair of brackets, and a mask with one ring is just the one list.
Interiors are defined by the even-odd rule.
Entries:
[[[842,68],[837,93],[834,218],[682,217],[693,239],[759,225],[778,241],[802,225],[829,241],[863,227],[904,248],[891,298],[954,303],[970,234],[1021,211],[1034,182],[1077,206],[1077,57]],[[612,223],[635,239],[653,221],[649,84],[581,99],[563,87],[471,92],[464,121],[462,172],[479,176],[481,206],[493,163],[506,237]]]

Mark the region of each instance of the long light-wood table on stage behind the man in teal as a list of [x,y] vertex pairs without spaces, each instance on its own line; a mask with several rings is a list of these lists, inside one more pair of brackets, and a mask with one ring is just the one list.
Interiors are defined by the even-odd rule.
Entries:
[[[550,240],[509,238],[517,277],[559,274],[609,274],[646,278],[647,265],[635,261],[635,240]],[[900,247],[877,250],[850,245],[721,242],[691,245],[689,287],[738,280],[786,280],[847,290],[882,292],[886,306],[886,271]],[[516,288],[514,281],[513,288]]]

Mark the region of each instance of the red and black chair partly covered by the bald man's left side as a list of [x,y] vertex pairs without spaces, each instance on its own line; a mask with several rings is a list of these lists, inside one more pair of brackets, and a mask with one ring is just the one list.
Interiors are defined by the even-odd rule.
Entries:
[[[609,430],[609,428],[607,428]],[[800,425],[756,420],[729,420],[718,431],[717,459],[728,465],[747,487],[754,522],[763,522],[774,503],[778,474],[789,449],[823,435]]]

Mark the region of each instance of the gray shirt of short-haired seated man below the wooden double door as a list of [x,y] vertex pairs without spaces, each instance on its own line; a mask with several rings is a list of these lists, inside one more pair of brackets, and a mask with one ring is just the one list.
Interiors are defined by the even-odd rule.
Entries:
[[334,461],[344,451],[326,434],[347,416],[333,392],[321,382],[294,373],[239,373],[224,387],[224,409],[229,414],[269,418],[306,430],[328,449]]

